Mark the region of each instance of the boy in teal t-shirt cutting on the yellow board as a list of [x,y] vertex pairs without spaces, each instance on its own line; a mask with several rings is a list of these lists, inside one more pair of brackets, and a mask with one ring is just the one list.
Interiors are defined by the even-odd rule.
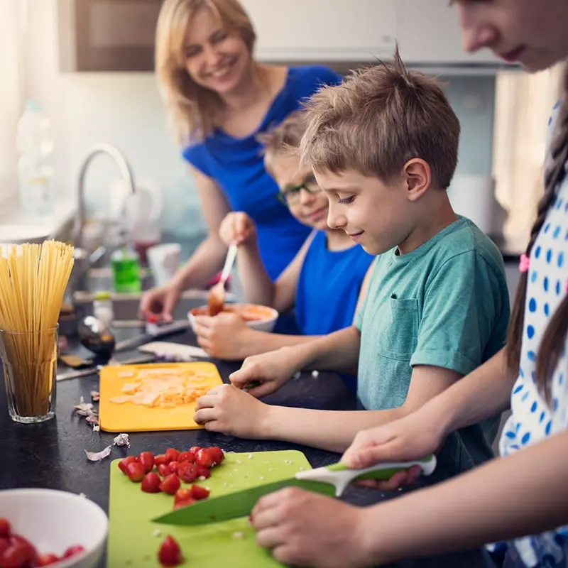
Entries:
[[[234,386],[197,400],[195,420],[229,435],[343,452],[359,431],[410,415],[501,349],[509,299],[496,246],[449,202],[460,129],[435,80],[408,72],[397,53],[392,64],[321,89],[307,121],[302,165],[326,192],[328,225],[377,256],[364,305],[351,327],[246,359]],[[255,398],[302,368],[357,372],[367,410]],[[252,381],[261,384],[241,390]],[[447,439],[444,472],[490,458],[497,425],[495,417]]]

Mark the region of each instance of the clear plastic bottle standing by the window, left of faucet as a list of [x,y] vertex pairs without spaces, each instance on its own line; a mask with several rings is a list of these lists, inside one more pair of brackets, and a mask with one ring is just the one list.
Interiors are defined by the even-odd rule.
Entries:
[[53,141],[49,137],[49,121],[34,101],[26,103],[18,121],[16,148],[18,158],[18,191],[22,211],[31,217],[52,212],[50,163]]

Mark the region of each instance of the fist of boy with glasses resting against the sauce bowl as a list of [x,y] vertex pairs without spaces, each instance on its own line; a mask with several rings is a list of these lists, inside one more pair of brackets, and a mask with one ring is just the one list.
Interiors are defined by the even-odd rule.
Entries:
[[195,318],[197,343],[215,359],[244,359],[242,351],[252,331],[239,315],[231,312]]

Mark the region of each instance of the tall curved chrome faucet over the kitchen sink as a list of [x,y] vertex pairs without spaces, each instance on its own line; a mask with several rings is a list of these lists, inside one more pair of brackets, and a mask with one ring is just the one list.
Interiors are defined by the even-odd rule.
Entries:
[[73,267],[70,283],[67,287],[67,293],[71,297],[77,290],[85,290],[87,288],[86,278],[88,276],[89,268],[91,268],[95,263],[101,261],[101,259],[105,256],[109,256],[112,252],[109,251],[108,244],[106,246],[105,244],[99,245],[94,251],[87,251],[83,243],[83,230],[85,224],[84,180],[92,159],[98,154],[109,155],[119,167],[122,178],[124,178],[124,181],[128,184],[129,190],[132,193],[136,192],[131,167],[118,148],[111,146],[111,144],[97,144],[97,146],[94,146],[85,156],[79,173],[77,217],[75,218],[75,224],[72,230],[72,241],[75,246],[75,266]]

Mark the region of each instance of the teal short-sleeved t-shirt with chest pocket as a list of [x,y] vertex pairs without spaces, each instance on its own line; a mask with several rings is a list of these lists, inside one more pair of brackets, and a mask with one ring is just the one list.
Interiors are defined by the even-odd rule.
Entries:
[[[402,405],[415,365],[470,373],[505,345],[509,312],[501,253],[469,219],[459,217],[410,253],[377,256],[356,317],[361,403],[368,410]],[[454,440],[469,454],[460,471],[492,456],[498,420],[464,432],[472,447]]]

